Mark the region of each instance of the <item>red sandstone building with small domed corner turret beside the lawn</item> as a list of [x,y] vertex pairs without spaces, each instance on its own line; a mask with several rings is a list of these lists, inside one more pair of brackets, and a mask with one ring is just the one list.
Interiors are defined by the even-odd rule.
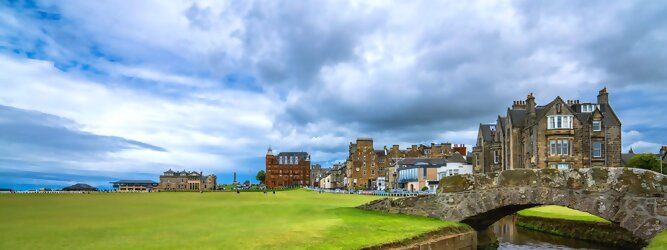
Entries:
[[307,186],[310,181],[310,155],[306,152],[266,152],[267,188]]

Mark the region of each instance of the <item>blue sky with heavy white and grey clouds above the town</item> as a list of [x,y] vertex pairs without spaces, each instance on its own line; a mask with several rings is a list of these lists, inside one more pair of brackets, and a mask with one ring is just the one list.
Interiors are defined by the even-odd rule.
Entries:
[[0,187],[167,170],[253,180],[274,152],[474,144],[534,93],[609,90],[623,150],[667,145],[664,1],[2,1]]

